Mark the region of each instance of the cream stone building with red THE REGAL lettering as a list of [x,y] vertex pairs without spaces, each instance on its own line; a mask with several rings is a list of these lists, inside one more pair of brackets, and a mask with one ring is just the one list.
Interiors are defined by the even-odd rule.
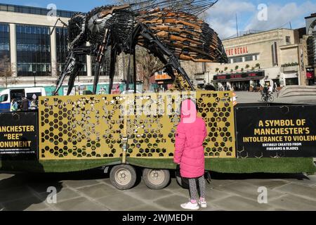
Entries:
[[246,91],[260,86],[301,85],[299,37],[295,30],[277,29],[223,40],[228,64],[209,63],[206,81],[218,89]]

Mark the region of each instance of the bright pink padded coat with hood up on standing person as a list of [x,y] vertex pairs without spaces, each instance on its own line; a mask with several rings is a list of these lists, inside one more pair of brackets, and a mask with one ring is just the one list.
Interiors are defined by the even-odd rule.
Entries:
[[204,120],[197,117],[195,103],[183,101],[181,121],[176,130],[176,150],[173,162],[180,164],[180,174],[185,178],[204,175],[205,160],[203,142],[207,136]]

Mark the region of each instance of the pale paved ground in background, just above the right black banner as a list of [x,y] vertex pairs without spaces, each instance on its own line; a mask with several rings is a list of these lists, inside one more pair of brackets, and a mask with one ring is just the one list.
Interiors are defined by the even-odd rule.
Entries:
[[[237,91],[238,103],[262,103],[260,92]],[[274,94],[274,103],[298,103],[298,104],[316,104],[316,96],[291,96],[285,98],[277,98]]]

